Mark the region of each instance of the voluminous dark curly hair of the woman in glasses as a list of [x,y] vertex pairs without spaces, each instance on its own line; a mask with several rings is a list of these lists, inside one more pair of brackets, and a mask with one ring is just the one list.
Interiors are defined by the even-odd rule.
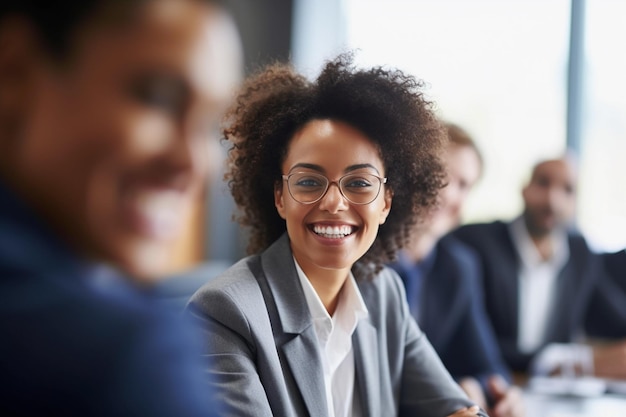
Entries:
[[248,252],[267,248],[286,231],[274,186],[282,184],[290,140],[307,122],[331,119],[377,145],[393,193],[387,221],[353,272],[368,278],[394,260],[445,179],[446,135],[422,87],[423,81],[397,69],[357,69],[352,54],[327,62],[314,82],[287,64],[270,65],[245,81],[227,113],[224,137],[232,142],[225,178],[241,209],[236,218],[251,229]]

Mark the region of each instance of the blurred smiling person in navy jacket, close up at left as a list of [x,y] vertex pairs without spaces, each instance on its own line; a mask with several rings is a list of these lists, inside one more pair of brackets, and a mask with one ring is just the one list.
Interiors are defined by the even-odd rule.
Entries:
[[1,415],[218,415],[197,335],[142,287],[240,62],[213,1],[2,2]]

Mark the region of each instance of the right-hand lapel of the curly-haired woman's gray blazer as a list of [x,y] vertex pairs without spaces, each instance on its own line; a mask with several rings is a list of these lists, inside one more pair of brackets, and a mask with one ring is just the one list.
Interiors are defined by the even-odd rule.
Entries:
[[380,416],[380,381],[377,332],[368,320],[361,320],[352,336],[356,387],[364,417]]

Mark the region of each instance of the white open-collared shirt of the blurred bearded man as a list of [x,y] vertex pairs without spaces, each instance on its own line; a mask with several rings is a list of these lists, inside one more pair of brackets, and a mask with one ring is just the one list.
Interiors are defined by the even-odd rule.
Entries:
[[546,330],[556,301],[559,272],[569,258],[567,234],[555,231],[551,235],[553,256],[543,260],[532,241],[523,217],[510,225],[513,243],[519,253],[519,311],[517,344],[522,352],[531,353],[545,341]]

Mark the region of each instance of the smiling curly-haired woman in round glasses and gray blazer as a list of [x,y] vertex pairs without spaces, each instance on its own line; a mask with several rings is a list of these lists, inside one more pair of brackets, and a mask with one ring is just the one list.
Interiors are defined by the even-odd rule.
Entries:
[[229,415],[484,415],[384,267],[442,185],[444,136],[421,86],[349,55],[315,81],[277,64],[245,83],[225,134],[253,254],[186,310]]

